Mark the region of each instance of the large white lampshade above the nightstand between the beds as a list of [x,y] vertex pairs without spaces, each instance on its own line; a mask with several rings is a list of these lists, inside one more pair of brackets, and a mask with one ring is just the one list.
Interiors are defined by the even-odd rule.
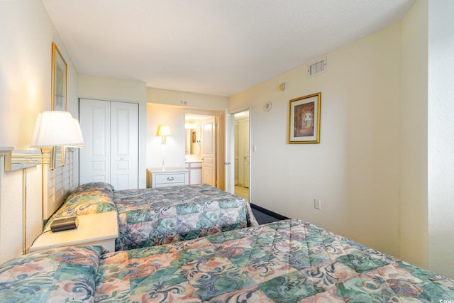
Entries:
[[31,139],[32,148],[68,146],[82,148],[84,139],[79,122],[68,111],[43,111],[38,114]]

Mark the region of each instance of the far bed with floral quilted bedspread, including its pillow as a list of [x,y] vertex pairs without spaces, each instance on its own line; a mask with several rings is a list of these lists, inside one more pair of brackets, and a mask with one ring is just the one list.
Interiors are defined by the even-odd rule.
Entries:
[[50,218],[117,211],[116,250],[184,241],[258,225],[248,201],[207,184],[114,190],[83,184]]

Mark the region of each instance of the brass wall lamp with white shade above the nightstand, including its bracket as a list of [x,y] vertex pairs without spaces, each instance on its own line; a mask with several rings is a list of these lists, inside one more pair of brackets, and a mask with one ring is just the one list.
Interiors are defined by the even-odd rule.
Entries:
[[57,147],[61,149],[60,163],[65,165],[65,148],[85,147],[79,121],[73,119],[68,111],[43,111],[36,119],[30,147],[41,148],[41,152],[13,150],[11,155],[6,157],[5,170],[16,170],[38,164],[50,164],[53,170],[58,156]]

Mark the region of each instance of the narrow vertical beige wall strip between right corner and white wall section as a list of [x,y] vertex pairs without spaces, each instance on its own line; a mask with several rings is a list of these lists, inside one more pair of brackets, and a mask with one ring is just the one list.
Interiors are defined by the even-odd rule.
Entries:
[[427,1],[402,20],[401,258],[428,267]]

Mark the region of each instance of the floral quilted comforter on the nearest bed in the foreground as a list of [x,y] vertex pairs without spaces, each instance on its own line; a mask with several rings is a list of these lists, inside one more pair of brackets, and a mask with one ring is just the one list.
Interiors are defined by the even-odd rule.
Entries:
[[298,220],[162,246],[53,248],[0,267],[0,302],[453,302],[454,280]]

